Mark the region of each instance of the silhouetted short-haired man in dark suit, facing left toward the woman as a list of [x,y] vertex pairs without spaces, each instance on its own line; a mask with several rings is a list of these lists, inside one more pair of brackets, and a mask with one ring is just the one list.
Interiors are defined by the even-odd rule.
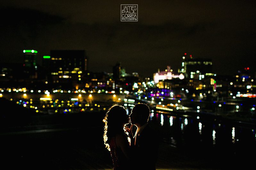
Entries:
[[148,124],[149,107],[145,104],[136,104],[130,114],[131,123],[136,125],[135,169],[155,170],[158,150],[158,137]]

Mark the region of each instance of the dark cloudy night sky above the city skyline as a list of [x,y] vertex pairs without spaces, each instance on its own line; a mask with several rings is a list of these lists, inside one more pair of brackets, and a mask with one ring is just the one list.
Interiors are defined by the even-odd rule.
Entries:
[[[138,4],[138,21],[121,22],[120,5]],[[22,63],[24,49],[86,50],[88,70],[153,76],[177,71],[184,53],[211,58],[213,72],[255,66],[255,1],[4,1],[0,62]],[[41,60],[39,60],[41,64]]]

